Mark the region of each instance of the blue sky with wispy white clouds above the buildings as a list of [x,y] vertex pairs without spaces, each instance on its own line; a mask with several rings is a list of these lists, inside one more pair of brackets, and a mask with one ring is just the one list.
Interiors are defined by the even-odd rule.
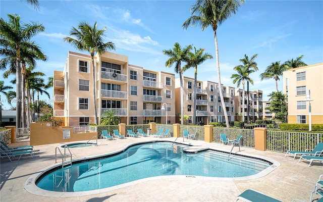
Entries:
[[[205,52],[214,59],[198,66],[197,79],[217,82],[213,30],[182,28],[194,3],[40,0],[40,10],[36,11],[25,1],[1,0],[0,14],[5,20],[7,14],[19,14],[24,23],[35,21],[45,26],[45,31],[32,40],[49,58],[46,62],[39,61],[35,70],[46,76],[52,76],[53,70],[63,71],[68,51],[79,52],[63,40],[71,28],[81,21],[91,25],[97,21],[99,29],[106,27],[106,41],[115,43],[116,50],[112,52],[128,56],[129,64],[144,69],[174,73],[174,67],[165,67],[168,57],[163,50],[173,48],[175,42],[182,47],[191,44],[197,49],[206,48]],[[323,1],[246,1],[219,26],[217,35],[222,83],[237,87],[230,78],[235,73],[233,68],[241,64],[239,59],[245,54],[249,57],[258,54],[255,62],[259,71],[250,75],[254,81],[250,90],[263,90],[267,100],[267,94],[276,89],[275,80],[260,81],[259,75],[272,62],[285,62],[300,55],[308,65],[323,62]],[[183,75],[194,78],[194,70]],[[11,79],[6,79],[5,85],[11,85]],[[283,90],[282,78],[278,88]],[[52,89],[48,92],[52,98]],[[43,96],[43,99],[48,98]],[[7,103],[3,104],[4,109],[10,109]]]

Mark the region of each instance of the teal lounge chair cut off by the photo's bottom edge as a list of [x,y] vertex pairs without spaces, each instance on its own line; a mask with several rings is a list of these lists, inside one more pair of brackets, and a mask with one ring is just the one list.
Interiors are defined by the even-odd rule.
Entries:
[[266,202],[282,202],[276,198],[271,196],[267,196],[259,191],[253,189],[247,189],[238,195],[236,201],[243,200],[246,202],[259,202],[259,201],[266,201]]

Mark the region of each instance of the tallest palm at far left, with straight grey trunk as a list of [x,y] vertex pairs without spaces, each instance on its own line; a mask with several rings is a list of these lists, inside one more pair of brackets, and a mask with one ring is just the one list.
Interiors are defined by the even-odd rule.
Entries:
[[[8,14],[9,22],[6,22],[3,18],[0,19],[0,45],[5,47],[4,49],[11,49],[15,51],[16,56],[16,92],[17,101],[22,100],[22,80],[21,80],[21,46],[29,47],[28,41],[31,37],[39,32],[45,30],[42,24],[32,22],[30,24],[22,24],[20,22],[20,16],[17,14]],[[3,52],[1,52],[3,56]],[[21,102],[16,103],[16,128],[21,127],[22,106]]]

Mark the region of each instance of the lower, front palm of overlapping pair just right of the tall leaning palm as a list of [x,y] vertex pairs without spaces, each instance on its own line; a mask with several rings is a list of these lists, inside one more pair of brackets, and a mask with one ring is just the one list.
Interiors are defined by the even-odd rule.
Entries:
[[244,84],[245,81],[249,81],[251,84],[253,84],[253,80],[249,78],[249,74],[254,72],[254,70],[248,69],[247,67],[242,65],[238,65],[233,69],[237,71],[236,74],[232,74],[231,76],[233,83],[237,83],[238,88],[240,86],[240,83],[242,83],[242,121],[244,121]]

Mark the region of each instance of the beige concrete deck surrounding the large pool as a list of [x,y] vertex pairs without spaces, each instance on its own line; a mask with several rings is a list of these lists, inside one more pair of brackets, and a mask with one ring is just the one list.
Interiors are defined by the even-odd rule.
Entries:
[[[78,159],[111,153],[131,143],[147,140],[174,141],[175,138],[99,139],[98,146],[71,148],[71,151],[73,159]],[[230,151],[232,148],[228,145],[198,140],[185,139],[183,142],[182,138],[178,138],[176,142],[225,151]],[[28,144],[29,142],[18,142],[10,146]],[[319,175],[323,174],[322,164],[312,163],[312,166],[308,167],[308,162],[298,163],[298,157],[293,161],[291,155],[285,158],[283,153],[259,151],[246,147],[242,147],[239,151],[239,147],[235,146],[234,153],[270,158],[281,165],[263,177],[248,180],[194,177],[154,178],[112,191],[74,197],[48,197],[28,192],[25,189],[26,180],[45,167],[55,164],[55,148],[62,144],[64,143],[35,146],[34,158],[23,158],[18,162],[10,162],[8,158],[1,159],[0,201],[235,201],[237,196],[246,189],[255,189],[282,201],[292,201],[294,198],[309,201]],[[316,198],[319,198],[319,195],[314,194],[313,201],[316,201]]]

